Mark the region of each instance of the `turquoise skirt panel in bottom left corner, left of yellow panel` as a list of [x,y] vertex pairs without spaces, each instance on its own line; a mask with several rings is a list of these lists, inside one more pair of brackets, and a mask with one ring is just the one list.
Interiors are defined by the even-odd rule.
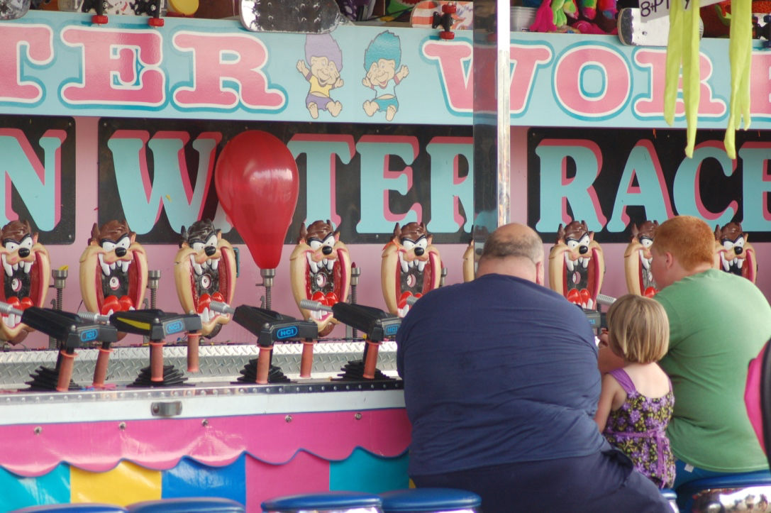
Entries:
[[69,502],[69,465],[59,464],[38,478],[22,478],[0,468],[0,511]]

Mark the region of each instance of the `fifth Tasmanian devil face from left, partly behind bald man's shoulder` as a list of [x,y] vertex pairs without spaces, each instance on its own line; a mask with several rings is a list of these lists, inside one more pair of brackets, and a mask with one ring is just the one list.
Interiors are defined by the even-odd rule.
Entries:
[[426,224],[407,223],[393,230],[393,237],[382,253],[380,281],[385,305],[392,314],[403,317],[409,312],[407,298],[420,297],[439,287],[442,260],[431,241]]

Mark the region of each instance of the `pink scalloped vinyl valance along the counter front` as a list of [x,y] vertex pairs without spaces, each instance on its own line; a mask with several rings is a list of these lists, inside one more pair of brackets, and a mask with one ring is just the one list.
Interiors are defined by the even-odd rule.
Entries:
[[305,451],[341,461],[356,447],[395,457],[409,445],[404,409],[293,413],[201,419],[132,420],[0,427],[0,467],[22,476],[47,474],[66,462],[103,472],[120,461],[153,470],[174,467],[183,456],[210,466],[230,464],[246,452],[267,464],[285,464]]

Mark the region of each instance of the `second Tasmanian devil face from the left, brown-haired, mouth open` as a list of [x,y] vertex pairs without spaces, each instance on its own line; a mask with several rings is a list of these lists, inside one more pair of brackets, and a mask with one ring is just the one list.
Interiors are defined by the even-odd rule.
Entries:
[[80,256],[80,293],[89,312],[139,308],[147,287],[147,257],[126,221],[94,223]]

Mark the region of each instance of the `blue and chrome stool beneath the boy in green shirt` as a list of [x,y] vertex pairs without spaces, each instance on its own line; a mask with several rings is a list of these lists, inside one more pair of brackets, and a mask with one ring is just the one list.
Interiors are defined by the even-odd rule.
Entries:
[[680,511],[732,511],[744,503],[771,501],[771,472],[756,471],[696,479],[677,488]]

